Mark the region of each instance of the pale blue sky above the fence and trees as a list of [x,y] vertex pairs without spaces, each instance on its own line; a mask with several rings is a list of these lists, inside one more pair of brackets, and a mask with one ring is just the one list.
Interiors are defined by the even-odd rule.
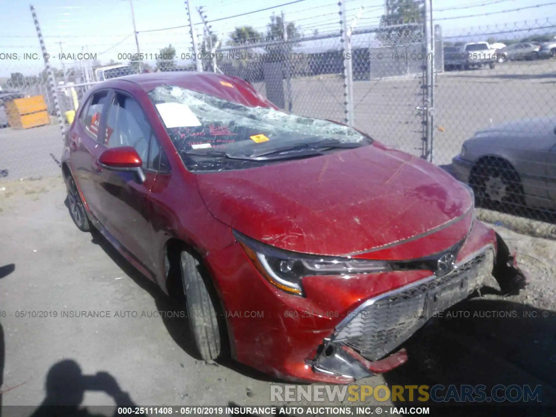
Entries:
[[[182,0],[132,0],[135,11],[138,42],[142,53],[154,54],[160,48],[172,44],[176,53],[191,51],[188,28],[163,29],[187,24],[185,4]],[[277,6],[292,0],[191,0],[193,23],[201,19],[195,11],[203,6],[209,21],[233,16],[260,8]],[[57,55],[64,53],[96,53],[102,63],[118,59],[118,54],[136,52],[131,19],[130,0],[32,0],[45,38],[51,63],[61,67]],[[497,13],[509,9],[542,5],[519,11]],[[481,6],[481,4],[483,4]],[[347,0],[346,9],[351,20],[358,9],[365,6],[358,26],[375,26],[384,12],[384,0]],[[474,6],[474,7],[467,7]],[[461,36],[468,33],[490,33],[501,28],[532,28],[556,24],[556,0],[434,0],[434,18],[441,24],[444,36]],[[272,12],[285,13],[286,21],[296,22],[297,27],[312,33],[339,30],[337,0],[304,0],[276,9],[257,12],[213,22],[215,33],[229,33],[236,26],[251,25],[265,29]],[[489,14],[493,13],[493,14]],[[485,14],[485,16],[471,16]],[[441,19],[441,20],[440,20]],[[202,26],[196,25],[202,34]],[[145,32],[150,31],[150,32]],[[519,33],[518,36],[523,36]],[[512,33],[501,35],[512,37]],[[485,37],[486,38],[486,37]],[[61,46],[58,42],[62,42]],[[321,41],[322,43],[326,41]],[[42,59],[23,59],[23,53],[41,53],[34,28],[29,3],[22,0],[4,0],[0,14],[0,58],[6,54],[18,54],[18,59],[0,61],[0,77],[11,72],[34,75],[43,69]],[[127,61],[123,59],[123,61]]]

